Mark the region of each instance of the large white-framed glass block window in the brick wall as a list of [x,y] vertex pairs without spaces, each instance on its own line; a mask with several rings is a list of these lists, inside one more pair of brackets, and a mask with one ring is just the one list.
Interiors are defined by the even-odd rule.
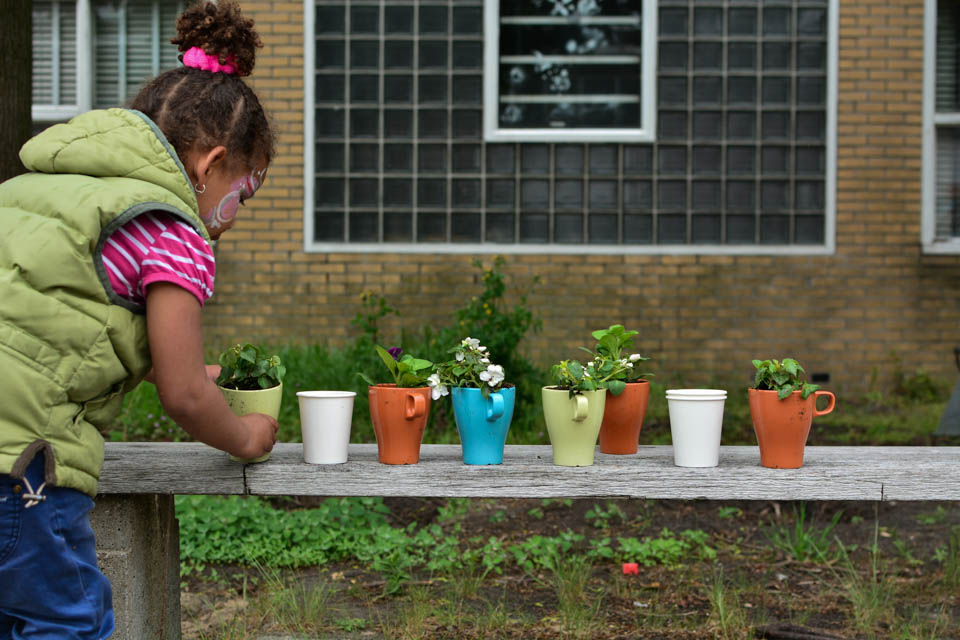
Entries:
[[[594,4],[610,10],[569,13]],[[558,15],[562,21],[542,20]],[[533,30],[543,55],[560,55],[547,43],[567,33],[563,25],[578,34],[612,29],[593,24],[604,16],[629,18],[631,29],[657,27],[653,38],[629,40],[640,66],[629,90],[616,90],[632,92],[640,106],[633,115],[617,111],[609,129],[626,132],[636,117],[652,127],[650,139],[571,138],[579,124],[598,130],[599,121],[582,119],[549,127],[542,139],[488,139],[487,119],[493,113],[499,125],[502,105],[498,98],[490,108],[485,87],[506,86],[501,71],[515,65],[500,64],[501,48],[484,49],[487,32],[522,18],[515,39]],[[623,22],[608,35],[618,43],[628,41]],[[634,0],[315,0],[306,56],[307,250],[828,250],[835,22],[831,0],[659,0],[652,8]],[[647,87],[651,41],[656,66]],[[491,49],[492,66],[484,62]],[[571,87],[591,87],[577,94],[584,97],[611,95],[590,83],[618,77],[570,73]],[[508,98],[537,95],[524,86],[530,93]],[[528,129],[543,122],[530,119]]]

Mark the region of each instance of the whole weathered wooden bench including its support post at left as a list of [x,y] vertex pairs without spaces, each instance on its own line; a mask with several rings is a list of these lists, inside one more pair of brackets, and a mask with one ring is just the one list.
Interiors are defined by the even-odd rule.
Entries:
[[721,447],[720,466],[688,469],[669,446],[558,467],[549,445],[510,445],[502,465],[468,466],[459,445],[428,444],[419,464],[390,466],[375,444],[352,444],[346,464],[317,466],[299,444],[244,465],[202,444],[110,443],[92,521],[115,640],[180,638],[177,494],[946,501],[960,500],[960,447],[808,447],[801,469],[765,469],[757,447]]

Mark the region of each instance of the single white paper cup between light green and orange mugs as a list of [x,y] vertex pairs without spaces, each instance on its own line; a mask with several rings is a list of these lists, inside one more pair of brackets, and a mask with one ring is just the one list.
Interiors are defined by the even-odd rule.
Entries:
[[303,461],[343,464],[347,461],[354,391],[298,391]]

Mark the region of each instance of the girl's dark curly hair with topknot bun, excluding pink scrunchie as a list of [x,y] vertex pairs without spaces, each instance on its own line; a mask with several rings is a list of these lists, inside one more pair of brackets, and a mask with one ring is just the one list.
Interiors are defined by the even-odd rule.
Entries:
[[148,82],[130,108],[153,120],[181,159],[191,150],[223,145],[228,162],[238,168],[269,163],[274,135],[260,100],[241,77],[253,71],[256,50],[263,46],[253,20],[240,13],[234,0],[203,0],[180,15],[177,37],[170,42],[181,52],[200,47],[221,64],[231,57],[237,74],[172,69]]

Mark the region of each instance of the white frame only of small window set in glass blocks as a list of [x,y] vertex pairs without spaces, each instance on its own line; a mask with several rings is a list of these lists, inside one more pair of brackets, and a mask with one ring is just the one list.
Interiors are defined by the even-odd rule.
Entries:
[[499,124],[500,0],[484,0],[483,138],[486,142],[653,142],[657,130],[657,0],[643,0],[641,127],[510,129]]

